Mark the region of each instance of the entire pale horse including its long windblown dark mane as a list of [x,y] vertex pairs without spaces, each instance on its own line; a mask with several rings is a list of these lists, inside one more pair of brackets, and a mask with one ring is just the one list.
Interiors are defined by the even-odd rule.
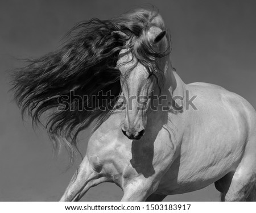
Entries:
[[[221,201],[256,201],[256,114],[240,95],[185,84],[170,60],[171,35],[155,9],[77,24],[60,49],[15,70],[22,114],[45,125],[71,161],[86,154],[60,201],[102,182],[121,201],[163,201],[214,183]],[[192,97],[192,98],[191,98]]]

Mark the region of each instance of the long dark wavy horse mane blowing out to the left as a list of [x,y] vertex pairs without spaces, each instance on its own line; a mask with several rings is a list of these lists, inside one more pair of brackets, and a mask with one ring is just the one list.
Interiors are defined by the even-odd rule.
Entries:
[[[121,93],[120,73],[115,68],[121,49],[130,48],[133,56],[153,73],[156,58],[162,55],[146,38],[145,32],[151,26],[166,30],[154,8],[77,24],[55,52],[28,59],[27,66],[14,70],[11,85],[22,117],[27,112],[34,125],[42,124],[42,115],[50,111],[46,128],[53,148],[59,150],[64,144],[72,161],[79,132],[94,121],[96,130],[114,111]],[[113,31],[121,31],[128,38],[113,36]],[[104,100],[108,107],[102,110],[102,102],[92,101],[93,97]]]

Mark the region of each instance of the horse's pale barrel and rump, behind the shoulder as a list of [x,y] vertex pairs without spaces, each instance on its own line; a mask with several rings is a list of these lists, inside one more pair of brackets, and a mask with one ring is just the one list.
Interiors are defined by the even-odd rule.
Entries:
[[[200,112],[188,112],[179,156],[162,178],[161,194],[198,190],[236,172],[250,133],[255,132],[255,111],[245,99],[207,83],[187,85],[187,89],[198,95],[194,103]],[[255,144],[254,135],[249,143]],[[255,162],[253,156],[251,169]]]

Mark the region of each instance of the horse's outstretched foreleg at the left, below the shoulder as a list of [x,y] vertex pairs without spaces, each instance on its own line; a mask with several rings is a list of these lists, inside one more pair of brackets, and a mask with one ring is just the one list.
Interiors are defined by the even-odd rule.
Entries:
[[79,201],[90,187],[106,181],[108,181],[106,177],[100,176],[93,170],[88,158],[85,156],[60,201]]

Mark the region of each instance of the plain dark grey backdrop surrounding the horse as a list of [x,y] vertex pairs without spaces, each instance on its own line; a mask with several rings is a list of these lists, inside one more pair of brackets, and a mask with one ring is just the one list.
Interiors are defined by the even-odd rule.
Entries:
[[[172,32],[172,63],[184,82],[216,83],[256,107],[255,1],[1,1],[0,2],[0,201],[57,201],[76,166],[67,172],[67,154],[52,157],[46,131],[33,131],[11,102],[8,71],[16,58],[55,50],[74,24],[93,17],[109,19],[132,6],[152,3]],[[80,147],[86,148],[86,132]],[[104,183],[82,201],[118,201],[122,191]],[[211,185],[164,201],[218,201]]]

